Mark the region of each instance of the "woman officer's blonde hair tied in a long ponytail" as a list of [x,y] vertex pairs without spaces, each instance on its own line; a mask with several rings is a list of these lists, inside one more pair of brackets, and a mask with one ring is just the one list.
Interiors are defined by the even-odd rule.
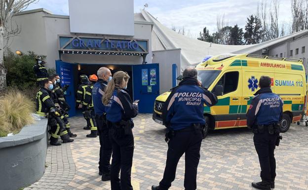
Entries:
[[108,82],[108,85],[105,89],[105,94],[103,96],[103,104],[108,105],[110,98],[115,90],[115,87],[120,87],[123,81],[127,82],[130,77],[126,72],[118,71],[114,74],[113,78]]

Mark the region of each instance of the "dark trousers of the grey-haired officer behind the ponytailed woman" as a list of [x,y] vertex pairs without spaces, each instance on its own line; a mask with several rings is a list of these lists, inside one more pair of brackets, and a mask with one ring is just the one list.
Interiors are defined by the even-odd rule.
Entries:
[[112,146],[109,139],[109,129],[104,115],[96,115],[96,124],[100,140],[100,159],[98,169],[105,174],[110,174],[110,159],[112,154]]

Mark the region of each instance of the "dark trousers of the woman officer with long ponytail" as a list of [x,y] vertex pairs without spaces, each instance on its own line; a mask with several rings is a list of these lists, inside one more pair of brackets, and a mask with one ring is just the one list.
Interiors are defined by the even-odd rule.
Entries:
[[[131,185],[131,167],[134,154],[134,136],[125,135],[118,138],[114,128],[110,128],[109,137],[112,144],[111,190],[133,190]],[[119,179],[119,172],[121,170]]]

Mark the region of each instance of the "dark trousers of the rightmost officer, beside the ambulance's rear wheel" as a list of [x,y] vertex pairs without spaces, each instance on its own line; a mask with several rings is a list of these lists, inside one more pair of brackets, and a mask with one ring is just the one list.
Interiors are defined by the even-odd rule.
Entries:
[[262,181],[271,182],[276,177],[275,144],[278,134],[270,135],[268,131],[254,135],[254,144],[259,156]]

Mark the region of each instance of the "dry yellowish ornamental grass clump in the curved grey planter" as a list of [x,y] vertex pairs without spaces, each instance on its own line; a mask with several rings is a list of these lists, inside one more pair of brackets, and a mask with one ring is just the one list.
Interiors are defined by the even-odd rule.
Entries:
[[31,113],[35,104],[18,90],[8,90],[0,96],[0,135],[18,133],[23,126],[33,123]]

